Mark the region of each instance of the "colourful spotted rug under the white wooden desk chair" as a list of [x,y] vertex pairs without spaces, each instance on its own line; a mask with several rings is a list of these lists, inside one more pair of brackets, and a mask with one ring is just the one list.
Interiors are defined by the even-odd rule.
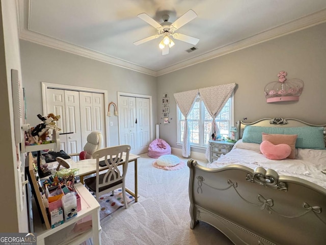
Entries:
[[[125,193],[127,203],[134,201],[134,197],[129,193]],[[117,211],[118,208],[124,208],[124,202],[122,197],[122,190],[117,189],[114,191],[114,195],[111,196],[111,192],[101,195],[100,197],[100,220],[105,218],[107,215],[112,214],[113,212]]]

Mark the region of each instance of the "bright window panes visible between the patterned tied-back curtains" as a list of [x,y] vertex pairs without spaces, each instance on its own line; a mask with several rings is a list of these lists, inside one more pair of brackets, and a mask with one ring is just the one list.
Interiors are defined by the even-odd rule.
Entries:
[[[220,114],[215,118],[216,124],[220,130],[220,137],[230,136],[229,130],[233,126],[233,94],[223,107]],[[178,113],[178,142],[183,141],[184,116],[177,106]],[[193,109],[188,116],[189,138],[192,146],[206,146],[211,139],[212,117],[209,115],[204,102],[198,96]]]

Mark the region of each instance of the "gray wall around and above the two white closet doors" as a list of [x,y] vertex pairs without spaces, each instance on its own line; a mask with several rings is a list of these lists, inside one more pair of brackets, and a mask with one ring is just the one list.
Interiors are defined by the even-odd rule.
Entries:
[[[20,52],[27,122],[31,126],[41,122],[37,118],[37,114],[43,113],[41,82],[107,90],[108,103],[117,104],[118,91],[156,98],[155,77],[22,40]],[[156,107],[156,100],[153,100],[153,108]],[[154,109],[153,136],[156,118]],[[113,121],[113,126],[108,127],[110,145],[117,145],[118,117],[111,116],[107,119]]]

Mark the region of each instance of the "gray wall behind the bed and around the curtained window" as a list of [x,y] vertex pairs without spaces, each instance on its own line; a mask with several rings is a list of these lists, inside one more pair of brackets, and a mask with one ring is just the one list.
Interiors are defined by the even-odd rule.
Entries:
[[[287,79],[304,81],[300,101],[266,103],[264,87],[277,81],[280,70],[288,72]],[[248,118],[248,122],[263,117],[295,117],[313,124],[325,124],[325,80],[326,23],[171,72],[157,78],[157,94],[169,93],[169,117],[173,118],[170,124],[164,125],[160,118],[162,114],[158,114],[160,137],[172,147],[181,148],[176,145],[173,93],[227,83],[238,84],[235,121],[244,117]]]

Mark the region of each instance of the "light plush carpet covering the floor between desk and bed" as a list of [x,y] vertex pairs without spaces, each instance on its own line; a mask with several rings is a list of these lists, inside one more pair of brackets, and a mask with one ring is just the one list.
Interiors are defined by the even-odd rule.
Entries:
[[[189,168],[164,171],[147,154],[138,159],[138,202],[119,208],[100,221],[103,245],[233,244],[212,226],[190,229]],[[180,157],[180,156],[178,156]],[[188,159],[180,157],[184,162]],[[126,187],[133,190],[134,164],[128,165]]]

